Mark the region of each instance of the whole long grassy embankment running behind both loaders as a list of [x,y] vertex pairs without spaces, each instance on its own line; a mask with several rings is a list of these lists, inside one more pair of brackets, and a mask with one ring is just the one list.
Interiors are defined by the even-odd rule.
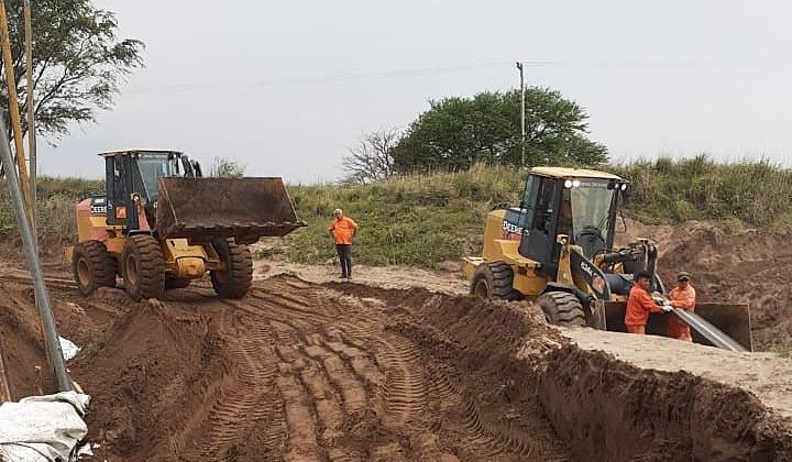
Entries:
[[[792,229],[792,170],[767,162],[718,164],[706,156],[661,158],[607,166],[632,180],[628,215],[646,223],[716,220],[725,228]],[[332,210],[343,208],[361,224],[355,261],[374,265],[436,267],[459,261],[481,248],[484,216],[494,204],[516,202],[520,174],[503,167],[476,166],[469,172],[406,176],[364,186],[290,186],[300,219],[309,227],[258,251],[299,263],[333,257],[327,226]],[[100,193],[100,180],[40,179],[40,229],[74,235],[74,205]],[[0,229],[13,226],[8,190],[0,188]]]

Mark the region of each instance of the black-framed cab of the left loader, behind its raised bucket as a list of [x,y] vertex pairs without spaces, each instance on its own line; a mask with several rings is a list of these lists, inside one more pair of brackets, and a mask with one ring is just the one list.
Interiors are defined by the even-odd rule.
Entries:
[[107,184],[107,222],[124,226],[128,231],[141,228],[141,217],[130,213],[140,201],[147,224],[153,227],[160,196],[160,178],[201,176],[200,166],[177,151],[129,150],[99,154],[105,157]]

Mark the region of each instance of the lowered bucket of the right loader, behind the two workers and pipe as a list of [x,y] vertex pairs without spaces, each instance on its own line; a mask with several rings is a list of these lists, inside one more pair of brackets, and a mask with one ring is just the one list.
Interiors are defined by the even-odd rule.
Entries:
[[[605,323],[607,330],[627,332],[624,324],[625,301],[605,301]],[[685,314],[682,314],[682,316]],[[719,346],[728,350],[752,351],[750,332],[750,311],[746,304],[696,304],[693,315],[688,314],[683,321],[691,326],[695,343]],[[647,333],[666,336],[668,317],[671,315],[652,314],[647,323]],[[702,322],[703,320],[704,322]],[[715,327],[712,329],[710,326]],[[726,336],[726,337],[723,337]],[[734,342],[738,343],[735,345]],[[732,348],[732,345],[736,348]]]

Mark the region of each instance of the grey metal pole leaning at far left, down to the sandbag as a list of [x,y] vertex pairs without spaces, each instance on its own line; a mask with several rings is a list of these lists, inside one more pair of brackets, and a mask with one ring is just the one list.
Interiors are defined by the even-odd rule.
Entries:
[[[6,118],[2,117],[2,112],[0,112],[0,127],[6,127],[4,119]],[[22,244],[25,258],[28,260],[28,267],[30,268],[31,276],[33,277],[33,289],[35,292],[38,316],[41,317],[42,334],[44,337],[44,351],[47,354],[50,365],[52,365],[55,371],[58,391],[69,392],[72,389],[72,382],[69,381],[68,372],[66,372],[66,363],[63,359],[63,351],[61,351],[61,340],[58,339],[55,319],[50,305],[50,294],[47,294],[46,286],[44,285],[44,275],[42,273],[41,263],[38,262],[35,245],[33,243],[33,232],[31,231],[30,222],[25,216],[23,189],[20,186],[19,178],[16,177],[16,170],[13,166],[11,145],[9,144],[6,130],[0,130],[0,162],[2,162],[6,180],[9,184],[9,189],[11,189],[11,202],[13,204],[14,212],[16,213],[16,221],[20,227],[20,233],[22,234]]]

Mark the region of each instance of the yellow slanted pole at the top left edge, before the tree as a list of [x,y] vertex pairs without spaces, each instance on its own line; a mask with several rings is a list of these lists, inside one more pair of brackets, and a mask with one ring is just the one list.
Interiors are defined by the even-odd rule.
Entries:
[[[25,217],[33,216],[33,208],[28,185],[28,165],[25,163],[24,146],[22,145],[22,125],[19,114],[19,96],[16,95],[16,79],[13,74],[13,56],[11,56],[11,37],[8,32],[8,15],[6,14],[6,0],[0,0],[0,40],[2,40],[2,58],[6,68],[6,84],[8,85],[9,114],[11,128],[14,133],[14,147],[16,164],[19,165],[19,180],[22,183],[22,198],[25,205]],[[2,127],[6,130],[6,125]],[[7,136],[8,138],[8,136]],[[30,219],[30,218],[29,218]]]

